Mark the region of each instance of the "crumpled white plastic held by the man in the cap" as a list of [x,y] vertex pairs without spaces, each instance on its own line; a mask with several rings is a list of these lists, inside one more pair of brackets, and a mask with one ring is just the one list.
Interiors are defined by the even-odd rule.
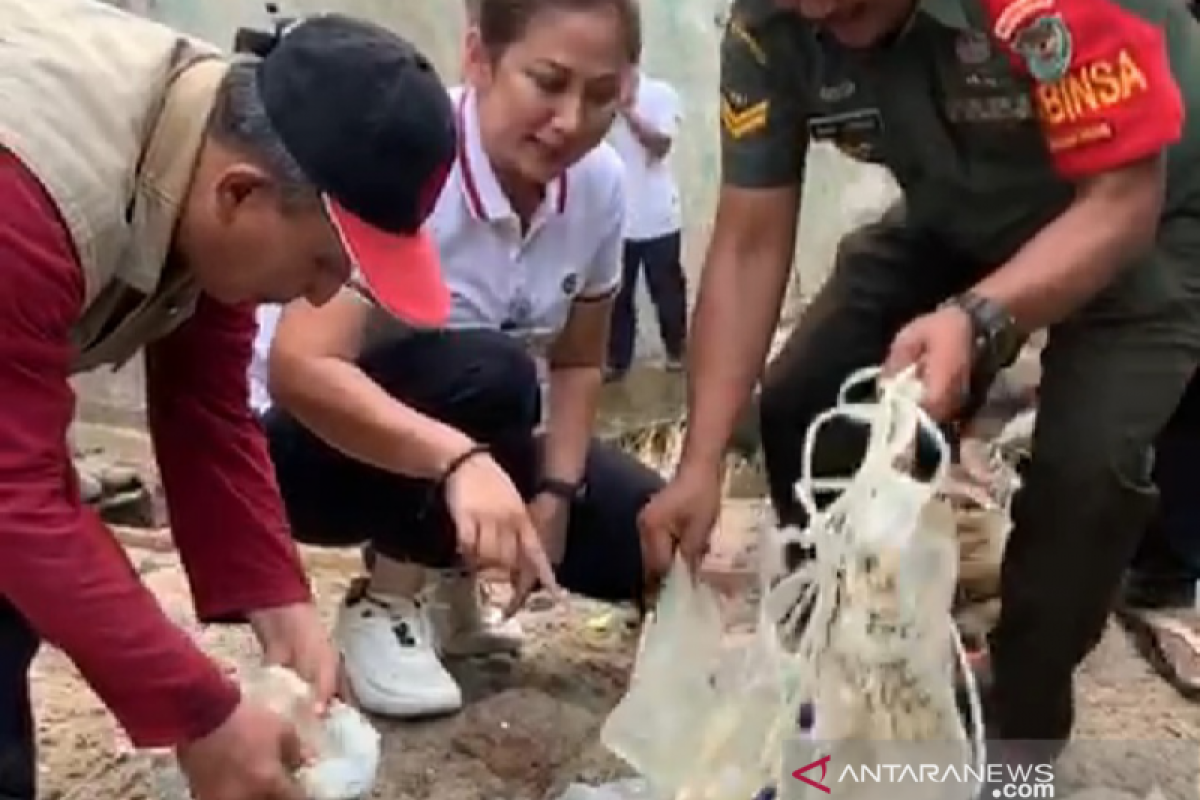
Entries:
[[[284,667],[265,667],[242,690],[292,721],[316,759],[296,771],[308,800],[359,800],[371,793],[379,771],[379,732],[354,708],[335,700],[324,717],[312,712],[312,690]],[[158,800],[192,800],[174,756],[152,754]]]

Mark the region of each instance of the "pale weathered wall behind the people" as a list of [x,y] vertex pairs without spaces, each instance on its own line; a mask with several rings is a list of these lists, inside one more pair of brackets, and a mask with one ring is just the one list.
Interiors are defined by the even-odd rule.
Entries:
[[[220,44],[239,25],[265,24],[258,0],[113,0],[138,13],[169,23]],[[403,32],[420,44],[448,82],[458,76],[464,6],[454,0],[281,0],[283,13],[338,10],[361,14]],[[670,80],[684,98],[688,124],[672,156],[679,176],[685,213],[684,261],[695,291],[700,260],[708,237],[719,180],[718,160],[718,42],[727,0],[643,0],[644,64],[648,72]],[[881,172],[816,148],[810,156],[804,193],[800,241],[793,285],[794,308],[803,294],[820,285],[838,239],[856,221],[870,216],[894,193]],[[642,290],[640,354],[660,354],[658,331]],[[127,419],[140,409],[140,367],[118,375],[102,373],[79,381],[84,413]]]

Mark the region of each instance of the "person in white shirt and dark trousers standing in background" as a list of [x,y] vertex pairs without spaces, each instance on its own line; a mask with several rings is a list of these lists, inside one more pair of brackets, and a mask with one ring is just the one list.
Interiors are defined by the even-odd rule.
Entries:
[[679,95],[644,71],[634,73],[634,91],[620,109],[608,142],[625,164],[625,247],[622,285],[613,305],[608,339],[608,380],[619,380],[634,361],[637,341],[637,278],[659,318],[667,369],[683,368],[688,337],[688,287],[683,273],[683,210],[670,152],[683,122]]

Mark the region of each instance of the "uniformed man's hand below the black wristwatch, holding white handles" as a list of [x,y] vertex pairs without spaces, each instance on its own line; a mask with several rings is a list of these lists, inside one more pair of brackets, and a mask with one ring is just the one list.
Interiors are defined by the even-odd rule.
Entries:
[[938,422],[948,422],[971,389],[971,318],[956,306],[943,306],[908,323],[892,341],[883,365],[894,375],[917,365],[924,384],[923,405]]

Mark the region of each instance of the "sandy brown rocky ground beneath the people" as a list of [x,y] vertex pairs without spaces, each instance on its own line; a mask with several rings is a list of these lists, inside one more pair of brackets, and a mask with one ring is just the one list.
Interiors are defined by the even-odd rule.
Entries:
[[[144,456],[136,437],[109,439],[107,449],[118,457]],[[739,531],[744,539],[752,516],[744,504],[732,509],[722,541],[737,541]],[[187,621],[186,583],[162,531],[126,530],[122,541],[173,618],[229,663],[251,658],[245,632],[200,631]],[[332,613],[356,563],[329,552],[305,557],[322,608]],[[636,634],[626,618],[572,600],[534,602],[522,622],[529,642],[520,658],[455,664],[469,700],[462,714],[379,723],[385,751],[374,798],[536,800],[557,796],[571,781],[623,775],[598,733],[632,662]],[[145,762],[128,752],[61,654],[47,649],[41,655],[34,684],[46,800],[158,800],[149,789]],[[1079,708],[1080,744],[1060,772],[1064,782],[1057,796],[1081,786],[1120,788],[1129,793],[1123,796],[1138,798],[1158,786],[1169,798],[1196,796],[1200,706],[1154,678],[1115,627],[1082,670]]]

